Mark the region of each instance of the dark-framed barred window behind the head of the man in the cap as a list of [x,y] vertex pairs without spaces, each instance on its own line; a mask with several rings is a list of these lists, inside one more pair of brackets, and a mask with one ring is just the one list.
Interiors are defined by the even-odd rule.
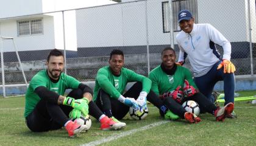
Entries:
[[[174,32],[180,31],[180,27],[178,24],[177,15],[180,10],[190,10],[193,13],[195,18],[195,23],[197,23],[197,0],[176,0],[172,1],[172,19],[173,19],[173,30]],[[168,33],[170,32],[169,27],[169,2],[162,2],[162,15],[163,15],[163,32]]]

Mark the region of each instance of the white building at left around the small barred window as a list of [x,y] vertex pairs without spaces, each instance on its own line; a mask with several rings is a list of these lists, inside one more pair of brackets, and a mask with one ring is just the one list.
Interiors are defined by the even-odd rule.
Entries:
[[[66,50],[76,51],[76,12],[71,9],[113,3],[108,0],[0,0],[0,36],[13,37],[20,51],[32,54],[36,51],[30,54],[32,58],[34,55],[45,58],[42,54],[47,54],[49,49],[64,49],[64,44]],[[62,10],[70,10],[64,12],[65,43]],[[0,43],[4,52],[15,51],[11,40]]]

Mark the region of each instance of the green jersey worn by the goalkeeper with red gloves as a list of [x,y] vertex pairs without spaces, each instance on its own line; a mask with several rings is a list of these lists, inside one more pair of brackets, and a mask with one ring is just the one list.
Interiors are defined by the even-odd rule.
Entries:
[[173,91],[178,86],[183,88],[184,80],[188,80],[190,85],[197,89],[190,71],[182,66],[177,66],[173,75],[166,74],[161,66],[157,66],[149,73],[149,78],[152,81],[151,89],[158,96],[165,92]]

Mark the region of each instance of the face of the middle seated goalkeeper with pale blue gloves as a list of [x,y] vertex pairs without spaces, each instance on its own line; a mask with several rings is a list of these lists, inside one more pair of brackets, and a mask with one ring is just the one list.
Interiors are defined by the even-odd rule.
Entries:
[[114,75],[119,75],[124,65],[124,56],[113,54],[110,60],[108,60],[110,69]]

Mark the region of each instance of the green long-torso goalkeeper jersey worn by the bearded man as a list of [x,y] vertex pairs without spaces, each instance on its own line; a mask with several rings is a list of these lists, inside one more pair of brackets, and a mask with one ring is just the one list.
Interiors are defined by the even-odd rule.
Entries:
[[69,75],[64,73],[60,74],[59,81],[53,83],[49,78],[47,71],[43,70],[38,72],[30,81],[29,88],[26,92],[25,112],[24,116],[27,117],[34,110],[37,103],[41,98],[35,93],[35,89],[39,86],[44,86],[49,91],[56,92],[63,96],[66,89],[77,89],[80,82]]

